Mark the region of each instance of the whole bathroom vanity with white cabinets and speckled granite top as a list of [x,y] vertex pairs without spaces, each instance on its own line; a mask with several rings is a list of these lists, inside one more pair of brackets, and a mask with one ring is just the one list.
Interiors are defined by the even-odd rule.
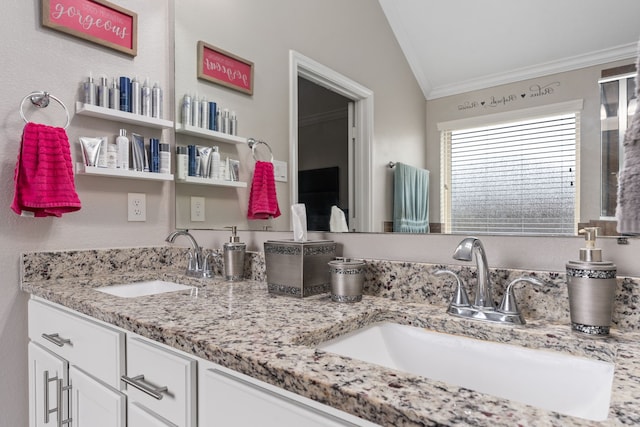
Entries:
[[[157,259],[171,250],[149,251],[155,252],[151,258]],[[95,261],[92,265],[103,267],[85,269],[84,273],[60,267],[72,261],[80,265],[79,258],[85,256]],[[572,333],[568,324],[538,319],[528,320],[521,327],[459,319],[446,314],[446,304],[407,302],[366,293],[356,304],[332,302],[329,294],[302,299],[274,296],[269,295],[262,280],[196,279],[185,276],[182,268],[171,263],[160,269],[156,266],[134,271],[126,265],[114,269],[112,265],[104,267],[105,263],[99,262],[101,257],[113,258],[113,253],[27,255],[23,258],[22,289],[32,296],[30,346],[40,347],[47,355],[57,354],[62,360],[57,370],[50,371],[49,378],[64,380],[65,372],[69,372],[61,387],[71,385],[71,399],[76,396],[76,384],[91,381],[96,389],[102,387],[102,395],[96,399],[117,421],[108,425],[126,425],[126,416],[129,425],[133,425],[133,417],[138,417],[139,424],[135,425],[152,426],[208,426],[215,422],[255,425],[256,420],[266,425],[270,419],[281,426],[314,425],[314,421],[315,425],[362,426],[640,423],[640,334],[634,331],[614,329],[610,337],[594,340]],[[45,264],[57,267],[51,267],[55,269],[51,271],[43,267]],[[431,269],[423,267],[425,271]],[[96,290],[155,279],[195,288],[132,298]],[[427,275],[424,280],[433,278]],[[433,289],[440,286],[430,284]],[[448,286],[446,292],[450,292]],[[51,316],[76,319],[69,323],[74,328],[85,325],[106,331],[112,337],[101,342],[108,341],[110,348],[99,350],[96,360],[76,357],[73,352],[81,349],[82,340],[65,336],[73,330],[54,330],[66,323],[47,320]],[[613,363],[608,416],[598,422],[562,415],[318,349],[327,340],[378,322]],[[42,339],[43,333],[58,333],[57,338],[71,339],[73,346],[58,346]],[[93,332],[89,335],[94,336]],[[90,349],[98,351],[97,347]],[[37,358],[31,358],[32,368],[40,366]],[[90,364],[98,360],[104,363]],[[88,380],[76,379],[76,371],[86,374]],[[35,372],[30,385],[35,388],[44,384],[43,375]],[[141,380],[142,386],[126,385],[123,376]],[[164,386],[168,389],[163,390]],[[31,402],[37,404],[42,394],[38,397],[41,392],[35,390]],[[48,393],[52,409],[53,385]],[[103,397],[105,394],[110,400]],[[105,402],[111,402],[110,406]],[[72,402],[71,416],[82,417],[82,413],[74,412],[77,407]],[[44,409],[31,408],[30,412],[37,419],[43,417]]]

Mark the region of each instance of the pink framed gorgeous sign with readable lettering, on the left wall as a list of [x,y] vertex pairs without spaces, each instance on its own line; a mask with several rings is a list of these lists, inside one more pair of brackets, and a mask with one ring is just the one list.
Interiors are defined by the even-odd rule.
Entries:
[[42,0],[42,26],[115,49],[138,53],[138,15],[104,0]]

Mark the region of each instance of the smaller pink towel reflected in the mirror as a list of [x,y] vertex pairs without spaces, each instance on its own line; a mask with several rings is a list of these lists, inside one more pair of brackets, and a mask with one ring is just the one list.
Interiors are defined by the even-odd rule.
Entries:
[[269,219],[280,216],[273,163],[257,161],[249,193],[249,219]]

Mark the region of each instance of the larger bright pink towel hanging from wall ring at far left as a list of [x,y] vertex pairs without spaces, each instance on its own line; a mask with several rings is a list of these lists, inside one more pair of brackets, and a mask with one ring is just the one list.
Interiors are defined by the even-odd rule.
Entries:
[[11,209],[23,216],[56,216],[80,209],[69,138],[63,128],[27,123],[13,176]]

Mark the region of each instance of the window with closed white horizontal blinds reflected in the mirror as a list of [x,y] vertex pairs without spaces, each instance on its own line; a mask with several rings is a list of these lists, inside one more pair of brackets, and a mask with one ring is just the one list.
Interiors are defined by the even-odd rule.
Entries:
[[442,130],[445,231],[574,235],[579,113]]

